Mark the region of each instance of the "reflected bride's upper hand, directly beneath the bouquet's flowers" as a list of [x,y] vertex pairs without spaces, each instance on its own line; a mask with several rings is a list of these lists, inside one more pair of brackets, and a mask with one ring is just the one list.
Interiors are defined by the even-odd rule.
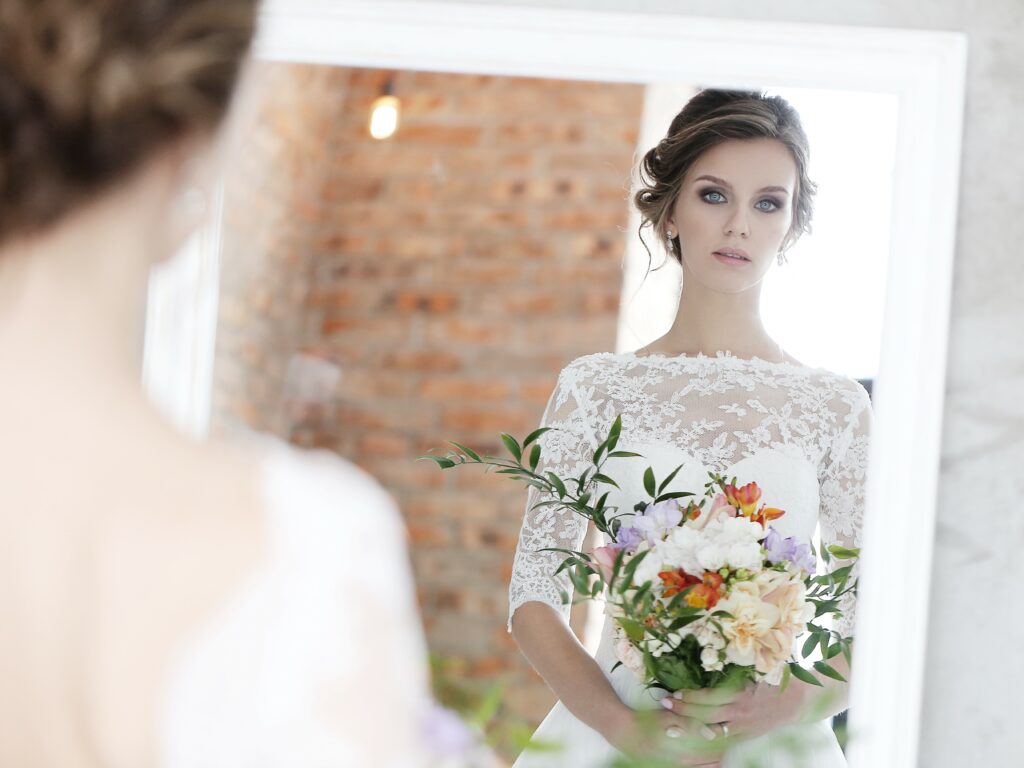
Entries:
[[797,722],[806,686],[750,683],[738,689],[705,688],[677,691],[669,697],[672,712],[701,723],[724,724],[730,740],[750,739]]

